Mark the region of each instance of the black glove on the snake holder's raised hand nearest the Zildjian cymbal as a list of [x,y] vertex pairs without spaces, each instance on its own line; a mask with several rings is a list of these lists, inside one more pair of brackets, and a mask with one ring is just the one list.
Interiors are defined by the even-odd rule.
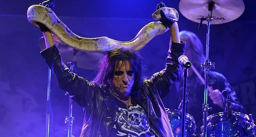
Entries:
[[[166,5],[164,5],[163,2],[160,2],[159,4],[157,4],[156,10],[158,10],[162,7],[166,7]],[[159,21],[161,21],[165,27],[170,28],[175,20],[170,17],[166,17],[163,10],[160,10],[160,15],[161,15],[161,19],[159,19]]]

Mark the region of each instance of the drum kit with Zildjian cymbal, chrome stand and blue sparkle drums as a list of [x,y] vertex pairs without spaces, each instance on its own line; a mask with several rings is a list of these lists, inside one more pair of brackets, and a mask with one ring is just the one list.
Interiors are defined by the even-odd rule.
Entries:
[[[242,15],[244,12],[242,0],[180,0],[179,10],[181,14],[196,23],[198,29],[202,24],[207,25],[206,32],[206,58],[201,67],[204,67],[204,103],[203,125],[201,134],[196,135],[196,121],[193,116],[186,113],[186,101],[182,101],[182,111],[170,110],[166,108],[170,124],[175,137],[256,137],[255,124],[252,114],[234,112],[230,107],[229,97],[226,99],[226,108],[223,112],[208,116],[211,109],[208,106],[208,74],[215,63],[209,59],[209,35],[210,24],[223,24],[231,22]],[[205,22],[204,22],[205,21]],[[184,68],[186,69],[186,68]],[[184,73],[186,70],[184,70]],[[186,75],[184,74],[184,88],[186,89]],[[186,100],[187,92],[183,90],[183,100]],[[183,115],[184,114],[184,115]]]

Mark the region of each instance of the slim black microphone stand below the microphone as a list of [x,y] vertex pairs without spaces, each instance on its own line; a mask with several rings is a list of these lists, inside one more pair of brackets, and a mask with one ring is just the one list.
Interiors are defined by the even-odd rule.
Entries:
[[183,71],[183,95],[182,95],[182,133],[181,133],[181,136],[184,137],[185,136],[185,115],[186,115],[186,104],[187,104],[187,77],[188,77],[188,68],[184,67],[184,71]]

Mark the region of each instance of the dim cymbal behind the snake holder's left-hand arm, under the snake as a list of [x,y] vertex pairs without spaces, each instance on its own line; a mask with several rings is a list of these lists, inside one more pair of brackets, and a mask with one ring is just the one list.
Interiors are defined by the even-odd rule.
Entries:
[[[54,43],[55,45],[58,45],[57,48],[60,51],[62,61],[65,64],[67,64],[69,61],[72,61],[75,50],[67,45],[57,44],[57,42]],[[38,46],[41,50],[45,49],[44,36],[39,38]],[[73,61],[77,62],[78,68],[96,70],[99,60],[103,57],[104,54],[102,53],[87,53],[78,51],[77,54],[74,56]]]

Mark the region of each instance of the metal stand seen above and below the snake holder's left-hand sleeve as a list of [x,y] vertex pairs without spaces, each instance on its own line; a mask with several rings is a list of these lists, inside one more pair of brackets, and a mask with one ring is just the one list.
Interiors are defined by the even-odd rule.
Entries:
[[[77,67],[76,64],[77,63],[76,63],[76,61],[73,61],[73,60],[74,60],[74,57],[77,54],[77,52],[78,52],[77,50],[74,51],[72,60],[67,63],[67,66],[68,66],[68,68],[71,72],[76,72],[76,67]],[[65,95],[68,96],[68,94],[69,93],[66,92]],[[69,100],[68,101],[69,102],[69,109],[68,109],[68,116],[66,116],[66,118],[65,118],[65,124],[68,125],[68,130],[67,130],[68,137],[73,137],[72,126],[73,126],[73,120],[75,119],[75,117],[72,116],[72,114],[73,114],[73,104],[72,104],[73,100],[70,96],[68,96],[68,100]]]

